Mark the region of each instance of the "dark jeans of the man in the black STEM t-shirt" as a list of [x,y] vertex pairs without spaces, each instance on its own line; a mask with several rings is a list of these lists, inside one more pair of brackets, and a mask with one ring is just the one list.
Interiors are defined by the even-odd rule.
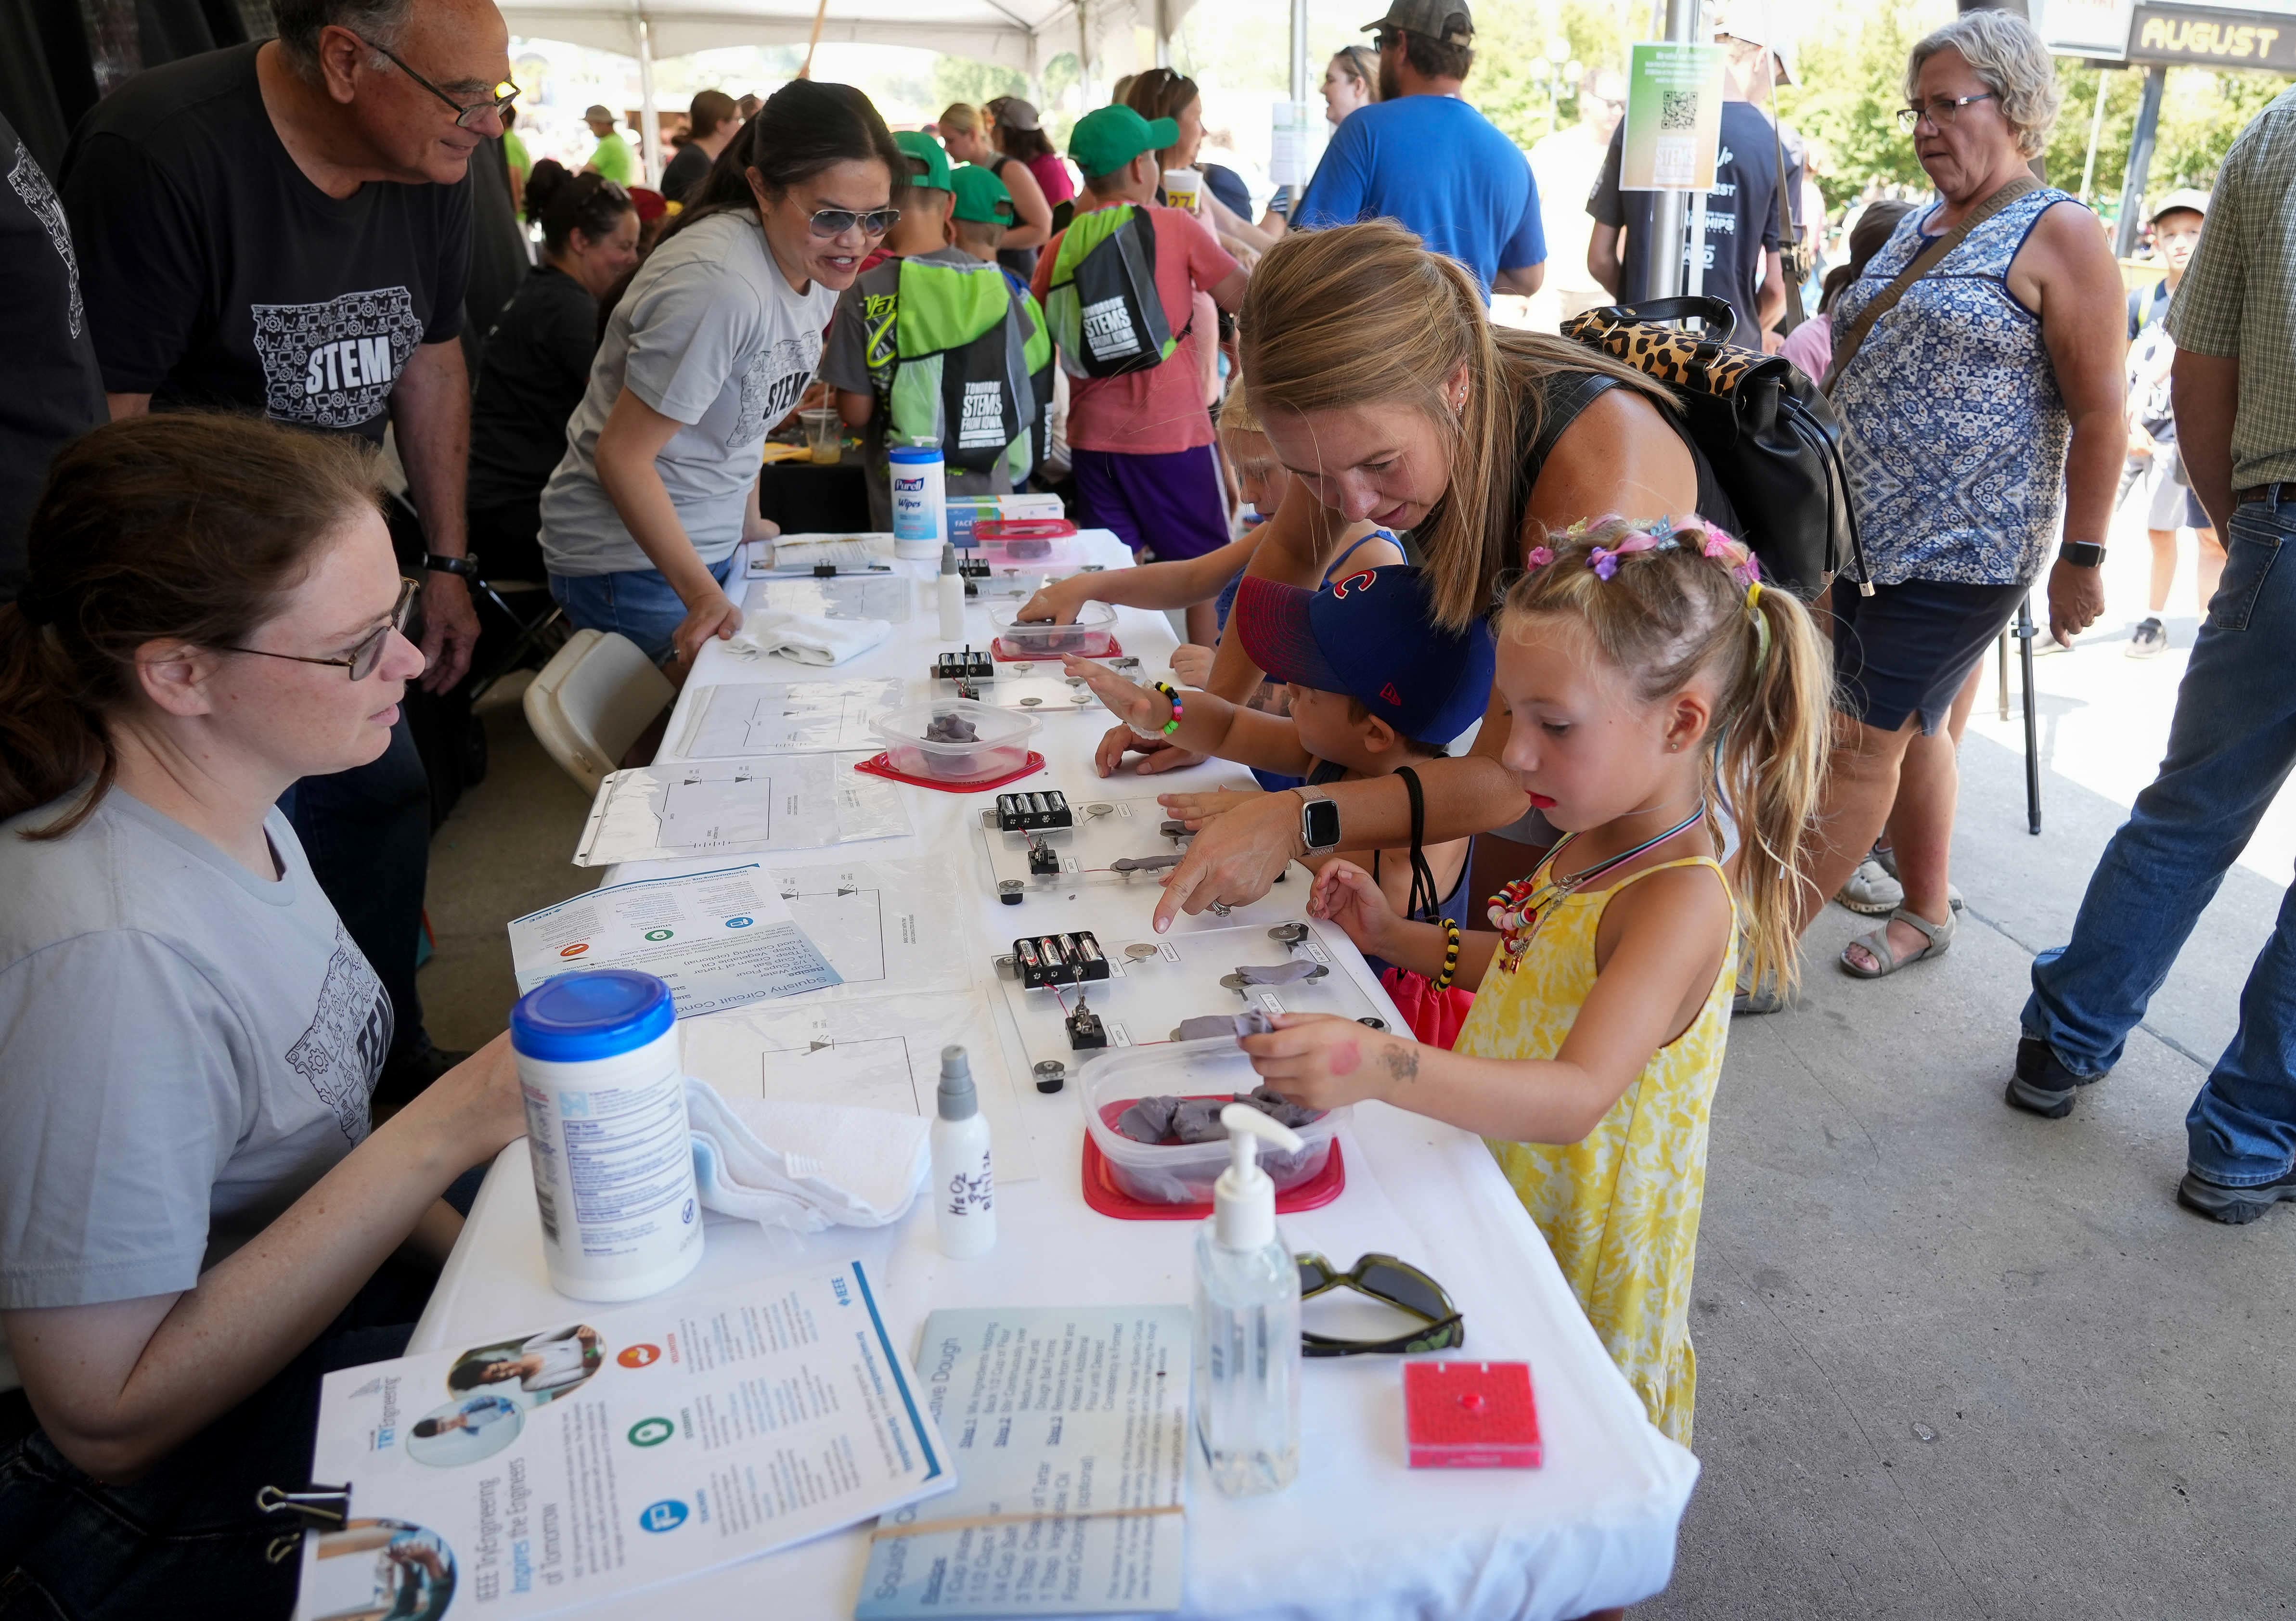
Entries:
[[429,1047],[416,994],[422,886],[429,882],[429,776],[402,714],[367,765],[305,776],[280,797],[319,889],[390,996],[390,1054]]

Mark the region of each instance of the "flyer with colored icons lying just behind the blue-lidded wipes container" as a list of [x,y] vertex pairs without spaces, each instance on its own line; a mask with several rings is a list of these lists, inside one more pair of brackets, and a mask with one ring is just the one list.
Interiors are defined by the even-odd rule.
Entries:
[[680,1019],[843,985],[755,863],[608,884],[510,923],[523,996],[560,974],[643,969]]

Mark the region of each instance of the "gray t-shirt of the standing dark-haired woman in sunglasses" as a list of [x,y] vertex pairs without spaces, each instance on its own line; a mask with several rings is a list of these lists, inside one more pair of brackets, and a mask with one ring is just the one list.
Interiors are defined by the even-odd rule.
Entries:
[[813,381],[836,308],[820,282],[790,287],[755,214],[714,214],[654,248],[606,319],[567,455],[542,491],[551,574],[654,567],[597,482],[597,436],[625,388],[684,422],[654,471],[703,563],[730,556],[765,436]]

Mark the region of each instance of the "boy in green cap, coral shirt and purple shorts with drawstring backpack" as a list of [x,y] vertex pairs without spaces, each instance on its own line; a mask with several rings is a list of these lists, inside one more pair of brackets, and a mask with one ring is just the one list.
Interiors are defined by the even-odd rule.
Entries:
[[[1084,170],[1077,216],[1035,262],[1035,296],[1052,319],[1070,381],[1068,448],[1081,519],[1116,530],[1132,551],[1148,546],[1166,560],[1228,544],[1199,349],[1217,344],[1219,333],[1194,331],[1189,317],[1199,292],[1228,312],[1244,301],[1244,269],[1212,232],[1194,214],[1155,200],[1164,179],[1157,154],[1176,140],[1169,117],[1150,122],[1123,106],[1086,113],[1068,140]],[[1130,241],[1114,241],[1123,232]],[[1095,248],[1095,259],[1107,264],[1107,255],[1146,243],[1153,243],[1164,333],[1153,331],[1153,310],[1127,310],[1120,298],[1104,296],[1095,269],[1084,266]],[[1132,262],[1139,264],[1139,253]],[[1146,285],[1139,292],[1146,294]],[[1134,328],[1143,328],[1137,335],[1146,340],[1137,354],[1141,365],[1111,374],[1102,354],[1107,338],[1116,331],[1130,340]]]

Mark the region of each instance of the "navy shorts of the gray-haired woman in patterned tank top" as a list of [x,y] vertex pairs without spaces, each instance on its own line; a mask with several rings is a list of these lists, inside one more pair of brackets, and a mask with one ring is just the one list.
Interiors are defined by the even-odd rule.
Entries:
[[1837,579],[1835,707],[1876,732],[1919,714],[1922,735],[1933,737],[2027,590],[1910,579],[1862,597],[1855,581]]

